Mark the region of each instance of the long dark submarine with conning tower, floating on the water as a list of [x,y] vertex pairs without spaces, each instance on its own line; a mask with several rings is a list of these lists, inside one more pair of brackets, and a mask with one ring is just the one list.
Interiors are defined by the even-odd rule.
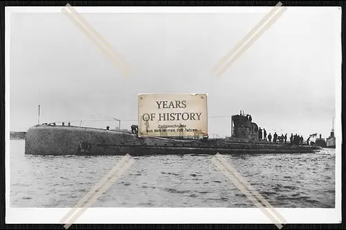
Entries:
[[240,113],[231,116],[230,137],[185,138],[140,136],[138,131],[114,131],[61,125],[56,122],[37,124],[25,137],[27,155],[215,155],[313,153],[320,146],[291,145],[260,140],[259,128],[252,119]]

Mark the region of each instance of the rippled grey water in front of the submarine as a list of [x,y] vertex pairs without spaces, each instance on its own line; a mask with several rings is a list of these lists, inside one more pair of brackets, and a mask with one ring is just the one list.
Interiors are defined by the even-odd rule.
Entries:
[[[273,207],[334,208],[335,149],[224,157]],[[73,207],[120,158],[24,155],[24,140],[11,140],[10,205]],[[211,158],[134,157],[92,207],[255,207]]]

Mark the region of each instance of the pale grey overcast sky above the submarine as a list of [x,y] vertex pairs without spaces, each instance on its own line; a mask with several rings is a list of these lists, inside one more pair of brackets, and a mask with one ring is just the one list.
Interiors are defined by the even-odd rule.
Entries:
[[12,13],[10,130],[37,124],[39,104],[40,122],[116,117],[130,129],[138,93],[208,93],[210,136],[230,135],[220,116],[244,110],[268,133],[327,137],[340,77],[336,10],[289,8],[221,78],[210,70],[266,12],[82,14],[134,66],[129,78],[64,14]]

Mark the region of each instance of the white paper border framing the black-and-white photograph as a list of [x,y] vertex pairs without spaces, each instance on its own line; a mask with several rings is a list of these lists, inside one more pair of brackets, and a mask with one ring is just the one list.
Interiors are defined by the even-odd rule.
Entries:
[[[11,208],[10,207],[10,14],[19,12],[60,12],[61,7],[6,7],[5,15],[5,61],[6,61],[6,223],[7,224],[55,224],[69,211],[69,208]],[[268,12],[271,7],[74,7],[78,12]],[[286,7],[288,10],[291,7]],[[308,7],[295,7],[308,8]],[[309,7],[310,8],[310,7]],[[311,7],[313,8],[313,7]],[[287,223],[325,224],[341,222],[341,8],[319,7],[334,10],[338,14],[340,28],[340,52],[335,61],[336,68],[336,159],[335,159],[335,207],[334,209],[280,209]],[[72,208],[72,207],[71,207]],[[248,208],[89,208],[75,222],[76,224],[272,224],[260,209]]]

